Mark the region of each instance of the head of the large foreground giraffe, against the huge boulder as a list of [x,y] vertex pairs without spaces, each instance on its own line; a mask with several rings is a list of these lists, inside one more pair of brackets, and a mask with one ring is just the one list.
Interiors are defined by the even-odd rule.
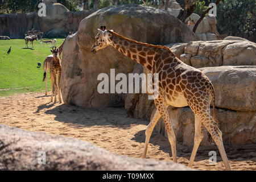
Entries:
[[91,52],[96,53],[98,50],[103,49],[109,46],[109,31],[106,30],[106,26],[101,26],[101,29],[98,29],[98,34],[95,37],[95,42],[91,48]]

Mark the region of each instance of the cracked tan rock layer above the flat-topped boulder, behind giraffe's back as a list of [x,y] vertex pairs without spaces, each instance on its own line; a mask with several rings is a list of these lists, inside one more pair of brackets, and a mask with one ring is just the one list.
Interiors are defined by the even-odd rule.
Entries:
[[[217,67],[221,65],[256,65],[256,44],[240,40],[215,40],[189,42],[181,54],[191,55],[192,67]],[[189,56],[188,56],[189,57]]]

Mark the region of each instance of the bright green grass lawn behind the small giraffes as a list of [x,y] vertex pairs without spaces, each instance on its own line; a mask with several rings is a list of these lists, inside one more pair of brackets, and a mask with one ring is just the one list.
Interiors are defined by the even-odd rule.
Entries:
[[[57,39],[57,47],[63,43]],[[7,51],[11,46],[11,53]],[[40,40],[34,41],[34,49],[25,48],[24,39],[0,40],[0,96],[11,96],[15,93],[39,92],[45,90],[43,82],[43,63],[51,55],[48,47]],[[38,67],[38,62],[42,67]],[[48,90],[51,89],[49,74],[47,77]]]

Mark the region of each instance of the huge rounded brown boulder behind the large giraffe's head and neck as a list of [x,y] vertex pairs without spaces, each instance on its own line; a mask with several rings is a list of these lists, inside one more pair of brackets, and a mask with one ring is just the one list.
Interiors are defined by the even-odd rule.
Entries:
[[109,46],[90,52],[101,25],[113,29],[128,38],[151,44],[185,43],[198,40],[184,23],[167,11],[141,5],[121,5],[98,10],[81,21],[77,34],[70,36],[63,48],[63,74],[61,92],[65,104],[104,107],[120,106],[123,95],[99,94],[97,77],[100,73],[110,75],[131,73],[135,61],[123,56]]

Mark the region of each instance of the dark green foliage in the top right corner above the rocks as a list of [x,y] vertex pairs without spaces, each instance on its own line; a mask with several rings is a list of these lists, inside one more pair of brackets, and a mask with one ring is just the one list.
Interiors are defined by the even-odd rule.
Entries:
[[240,36],[255,42],[255,0],[222,0],[217,6],[218,31],[220,34]]

